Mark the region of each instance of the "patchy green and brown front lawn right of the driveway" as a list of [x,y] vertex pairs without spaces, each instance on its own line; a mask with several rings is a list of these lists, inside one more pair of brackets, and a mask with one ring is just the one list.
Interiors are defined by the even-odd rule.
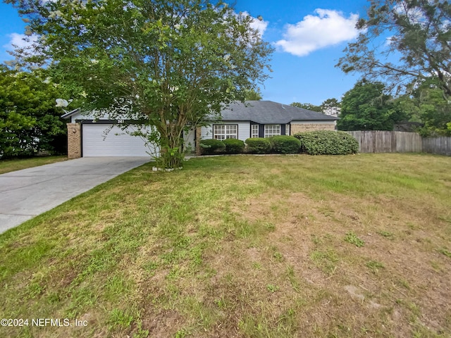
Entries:
[[450,168],[419,154],[144,165],[0,235],[0,318],[29,320],[0,337],[450,337]]

